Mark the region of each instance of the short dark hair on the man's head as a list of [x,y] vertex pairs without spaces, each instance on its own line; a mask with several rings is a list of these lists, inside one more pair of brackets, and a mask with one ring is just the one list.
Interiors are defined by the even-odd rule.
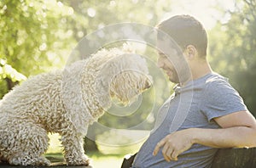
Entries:
[[193,45],[199,56],[207,56],[207,31],[194,17],[186,14],[176,15],[156,27],[171,36],[183,50],[188,45]]

